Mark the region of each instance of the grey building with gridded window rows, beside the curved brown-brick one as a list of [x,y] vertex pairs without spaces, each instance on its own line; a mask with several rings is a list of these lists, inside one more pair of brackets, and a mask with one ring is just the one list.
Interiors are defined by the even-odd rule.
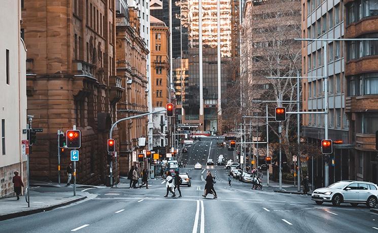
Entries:
[[[302,0],[303,38],[343,38],[345,33],[343,2],[339,0]],[[328,64],[328,137],[334,141],[329,180],[352,178],[353,163],[350,154],[349,118],[346,114],[345,44],[327,42],[327,61],[324,61],[322,42],[302,42],[302,106],[304,111],[324,111],[324,63]],[[324,139],[324,114],[303,115],[302,136],[320,146]],[[310,158],[310,166],[312,162]],[[324,174],[324,157],[314,158],[314,176]],[[330,163],[331,164],[331,163]]]

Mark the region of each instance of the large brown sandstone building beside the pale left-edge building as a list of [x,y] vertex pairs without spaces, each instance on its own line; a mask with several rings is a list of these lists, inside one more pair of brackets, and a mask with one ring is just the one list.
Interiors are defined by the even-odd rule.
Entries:
[[[30,178],[57,180],[57,130],[76,125],[82,135],[77,181],[104,183],[107,139],[123,92],[115,65],[115,1],[25,1],[22,18],[28,114],[35,115],[33,128],[43,129],[32,147]],[[61,154],[62,170],[69,154]]]

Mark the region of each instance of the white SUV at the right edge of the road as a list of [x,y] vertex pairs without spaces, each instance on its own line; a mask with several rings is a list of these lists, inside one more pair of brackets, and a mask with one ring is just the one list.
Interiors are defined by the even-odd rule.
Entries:
[[350,203],[352,206],[366,204],[374,208],[378,200],[378,186],[364,181],[342,180],[325,188],[315,189],[311,199],[318,205],[330,202],[334,206]]

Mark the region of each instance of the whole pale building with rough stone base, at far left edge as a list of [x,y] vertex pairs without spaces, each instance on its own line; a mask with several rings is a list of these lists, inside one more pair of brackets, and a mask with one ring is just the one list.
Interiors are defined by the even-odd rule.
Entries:
[[26,156],[26,47],[21,38],[21,0],[7,0],[0,9],[0,198],[14,195],[12,178],[19,171],[27,184]]

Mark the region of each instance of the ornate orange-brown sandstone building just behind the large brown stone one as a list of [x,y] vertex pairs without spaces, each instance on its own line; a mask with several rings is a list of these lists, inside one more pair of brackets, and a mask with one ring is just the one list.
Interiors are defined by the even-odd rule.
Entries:
[[[116,11],[116,68],[124,87],[117,104],[118,119],[133,117],[148,112],[147,44],[140,34],[139,11],[117,1]],[[132,153],[147,149],[148,118],[135,118],[119,123],[120,174],[127,175],[135,165]]]

